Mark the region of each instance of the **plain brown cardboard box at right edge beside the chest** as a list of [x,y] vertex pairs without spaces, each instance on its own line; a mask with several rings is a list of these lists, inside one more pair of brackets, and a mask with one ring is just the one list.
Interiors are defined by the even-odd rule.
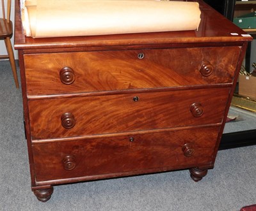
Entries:
[[238,93],[256,100],[256,76],[239,75]]

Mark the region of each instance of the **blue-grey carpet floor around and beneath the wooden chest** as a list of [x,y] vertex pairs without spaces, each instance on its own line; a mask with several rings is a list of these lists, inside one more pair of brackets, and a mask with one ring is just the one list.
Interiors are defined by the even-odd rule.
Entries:
[[30,189],[20,89],[0,62],[0,210],[218,210],[256,203],[256,146],[218,152],[215,168],[196,183],[189,171],[55,186],[51,200]]

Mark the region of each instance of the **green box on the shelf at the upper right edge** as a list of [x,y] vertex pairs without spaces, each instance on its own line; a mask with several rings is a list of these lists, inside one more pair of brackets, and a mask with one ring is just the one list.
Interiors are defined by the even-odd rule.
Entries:
[[236,24],[241,29],[255,29],[256,28],[256,13],[252,12],[246,15],[242,15],[240,17],[236,17],[233,20],[234,24]]

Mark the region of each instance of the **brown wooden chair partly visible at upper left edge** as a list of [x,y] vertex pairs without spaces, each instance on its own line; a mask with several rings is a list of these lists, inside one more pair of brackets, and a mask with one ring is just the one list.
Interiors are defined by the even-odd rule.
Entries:
[[7,17],[5,17],[4,0],[1,0],[1,1],[2,1],[2,8],[3,8],[3,18],[0,18],[0,40],[4,40],[8,55],[0,55],[0,59],[9,59],[10,60],[10,64],[12,66],[12,73],[13,73],[13,77],[15,80],[15,85],[16,85],[17,89],[19,89],[17,69],[16,69],[15,59],[14,59],[14,55],[13,55],[12,43],[10,40],[10,38],[12,37],[12,34],[13,34],[12,21],[10,20],[11,1],[12,0],[7,0]]

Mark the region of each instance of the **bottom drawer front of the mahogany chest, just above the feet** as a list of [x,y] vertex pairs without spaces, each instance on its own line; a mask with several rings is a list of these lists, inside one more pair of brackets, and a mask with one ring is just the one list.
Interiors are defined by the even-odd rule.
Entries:
[[[210,164],[220,127],[33,145],[36,181]],[[131,138],[132,142],[131,142]],[[132,174],[132,173],[131,173]],[[115,177],[115,176],[114,176]]]

